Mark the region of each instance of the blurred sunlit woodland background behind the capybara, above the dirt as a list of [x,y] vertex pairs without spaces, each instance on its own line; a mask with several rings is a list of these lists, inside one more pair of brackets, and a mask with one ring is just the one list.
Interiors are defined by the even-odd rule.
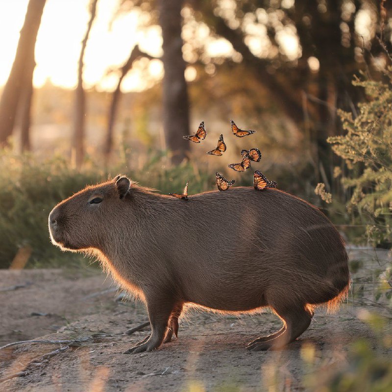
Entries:
[[[79,263],[47,217],[87,183],[251,186],[227,168],[251,147],[348,243],[391,247],[391,17],[378,0],[1,0],[0,267]],[[183,140],[201,121],[206,140]]]

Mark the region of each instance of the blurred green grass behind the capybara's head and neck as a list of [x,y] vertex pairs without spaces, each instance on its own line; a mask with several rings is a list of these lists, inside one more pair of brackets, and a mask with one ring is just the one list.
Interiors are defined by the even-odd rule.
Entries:
[[191,164],[166,168],[165,154],[149,156],[149,160],[135,170],[128,170],[127,167],[126,162],[131,161],[131,157],[123,156],[122,163],[108,170],[102,170],[90,162],[77,171],[60,156],[40,161],[32,155],[15,155],[9,150],[2,150],[0,268],[8,268],[16,260],[16,255],[21,253],[27,253],[27,267],[39,267],[42,263],[46,267],[59,267],[65,263],[67,266],[79,265],[81,255],[63,253],[50,243],[48,216],[54,205],[86,184],[95,184],[124,173],[143,185],[167,194],[182,191],[188,179],[191,180],[192,193],[211,188],[215,181],[213,176],[195,170]]

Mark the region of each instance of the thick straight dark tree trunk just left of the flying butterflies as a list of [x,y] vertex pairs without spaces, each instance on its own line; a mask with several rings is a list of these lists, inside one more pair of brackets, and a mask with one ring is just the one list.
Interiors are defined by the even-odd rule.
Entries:
[[159,23],[163,37],[163,128],[166,145],[172,151],[172,163],[187,156],[189,141],[189,101],[185,81],[185,61],[182,57],[181,9],[183,0],[160,0]]

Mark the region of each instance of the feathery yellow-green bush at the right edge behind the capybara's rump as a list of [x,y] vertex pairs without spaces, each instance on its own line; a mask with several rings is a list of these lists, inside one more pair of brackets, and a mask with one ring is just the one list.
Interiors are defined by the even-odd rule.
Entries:
[[386,82],[355,78],[368,100],[359,104],[356,116],[339,111],[347,133],[328,138],[346,164],[342,183],[352,189],[348,211],[368,224],[373,245],[392,242],[392,74],[387,77]]

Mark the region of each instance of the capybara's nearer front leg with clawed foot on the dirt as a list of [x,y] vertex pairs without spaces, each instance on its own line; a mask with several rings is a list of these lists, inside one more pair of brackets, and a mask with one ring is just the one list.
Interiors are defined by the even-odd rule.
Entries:
[[173,304],[172,300],[169,300],[168,298],[165,300],[163,295],[156,294],[154,299],[150,301],[147,299],[147,311],[151,323],[151,334],[147,336],[144,341],[139,342],[134,347],[124,351],[124,354],[136,354],[158,348],[165,339],[169,319],[174,308],[175,304]]

